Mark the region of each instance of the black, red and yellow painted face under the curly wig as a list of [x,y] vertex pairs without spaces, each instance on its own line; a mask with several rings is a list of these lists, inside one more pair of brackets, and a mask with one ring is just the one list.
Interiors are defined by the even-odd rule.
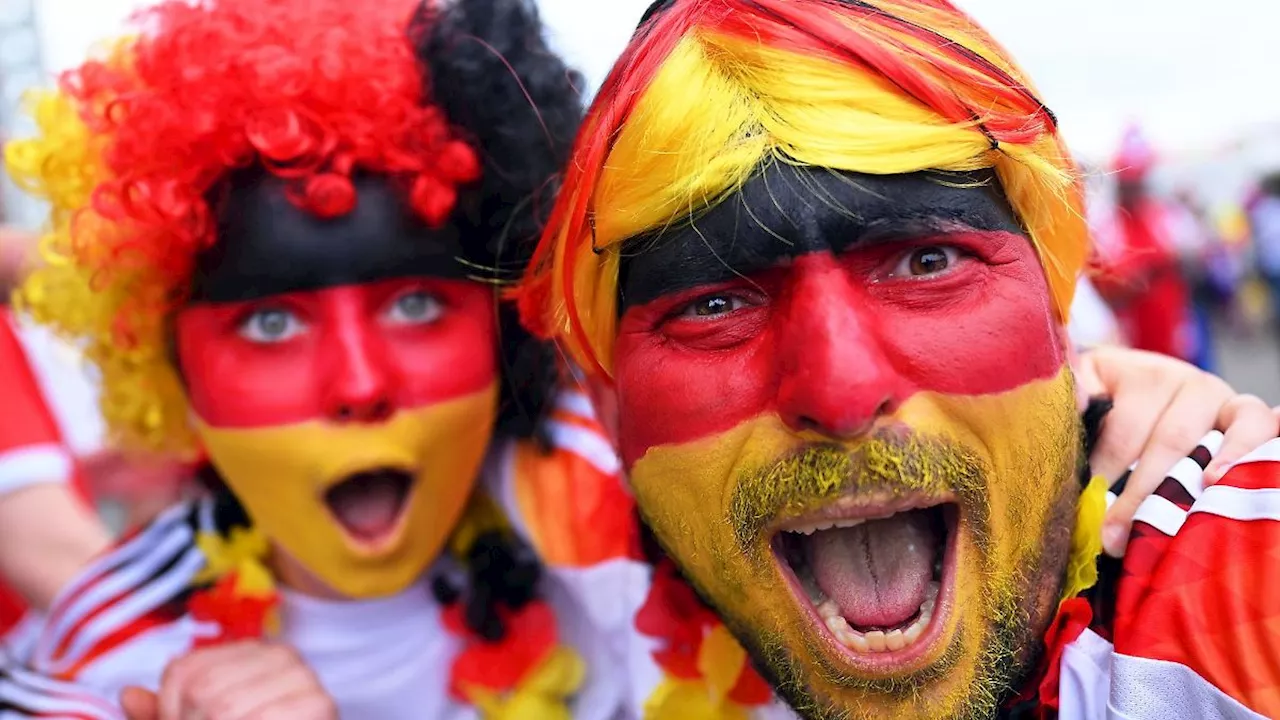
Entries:
[[384,183],[319,220],[238,184],[177,351],[201,441],[253,521],[338,592],[392,594],[436,557],[493,428],[493,290]]

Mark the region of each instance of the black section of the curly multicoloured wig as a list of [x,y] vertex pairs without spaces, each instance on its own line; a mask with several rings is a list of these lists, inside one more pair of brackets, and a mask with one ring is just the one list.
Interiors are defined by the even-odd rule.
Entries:
[[[476,275],[518,279],[558,190],[582,117],[582,78],[548,47],[532,0],[424,1],[410,23],[428,96],[477,151],[480,182],[458,197]],[[556,351],[499,310],[503,389],[495,433],[538,438]]]

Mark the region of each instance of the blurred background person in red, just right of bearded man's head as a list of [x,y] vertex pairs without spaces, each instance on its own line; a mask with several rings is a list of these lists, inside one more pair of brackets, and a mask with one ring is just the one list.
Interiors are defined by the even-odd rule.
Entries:
[[1148,187],[1155,163],[1140,131],[1130,128],[1112,161],[1116,206],[1096,228],[1096,282],[1130,346],[1194,363],[1202,357],[1172,215]]

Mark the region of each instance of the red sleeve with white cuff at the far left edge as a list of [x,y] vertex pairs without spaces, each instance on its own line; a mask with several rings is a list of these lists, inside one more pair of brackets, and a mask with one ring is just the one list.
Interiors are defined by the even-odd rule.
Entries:
[[70,454],[6,313],[0,313],[0,497],[67,482]]

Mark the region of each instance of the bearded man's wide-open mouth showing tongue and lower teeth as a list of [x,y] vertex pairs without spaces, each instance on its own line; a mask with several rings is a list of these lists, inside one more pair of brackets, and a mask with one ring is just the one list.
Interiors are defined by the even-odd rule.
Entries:
[[774,536],[773,550],[794,575],[796,594],[841,646],[906,661],[922,655],[945,623],[957,519],[954,503],[800,519]]

